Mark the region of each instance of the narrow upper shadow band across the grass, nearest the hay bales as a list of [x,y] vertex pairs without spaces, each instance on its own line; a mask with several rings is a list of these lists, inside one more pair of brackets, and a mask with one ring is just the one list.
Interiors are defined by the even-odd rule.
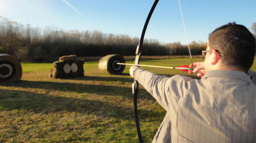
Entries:
[[[132,84],[132,82],[131,82]],[[70,82],[48,82],[48,81],[28,81],[20,80],[18,83],[3,84],[5,87],[44,89],[62,92],[90,93],[97,95],[111,96],[128,96],[132,95],[132,88],[124,87],[122,82],[109,82],[104,85],[99,84],[82,84]],[[144,89],[140,91],[146,92]]]

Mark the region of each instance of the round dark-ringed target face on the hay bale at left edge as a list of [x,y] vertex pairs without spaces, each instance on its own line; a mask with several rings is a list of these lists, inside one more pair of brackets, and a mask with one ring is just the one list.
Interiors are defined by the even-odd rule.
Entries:
[[15,74],[15,66],[8,61],[0,62],[0,80],[8,80]]

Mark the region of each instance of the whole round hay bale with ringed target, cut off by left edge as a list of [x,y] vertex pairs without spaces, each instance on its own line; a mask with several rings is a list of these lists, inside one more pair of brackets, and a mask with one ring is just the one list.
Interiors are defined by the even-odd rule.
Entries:
[[22,78],[22,65],[10,55],[0,54],[0,83],[17,82]]

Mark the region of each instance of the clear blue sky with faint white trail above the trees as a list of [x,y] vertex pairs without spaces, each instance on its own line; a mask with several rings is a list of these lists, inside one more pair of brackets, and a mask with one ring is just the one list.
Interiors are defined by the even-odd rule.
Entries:
[[[140,37],[154,0],[0,0],[0,15],[23,24],[55,25],[68,30]],[[228,22],[250,28],[256,22],[256,1],[180,0],[188,41],[207,42],[208,34]],[[73,7],[73,8],[72,8]],[[145,38],[186,44],[178,0],[160,0]]]

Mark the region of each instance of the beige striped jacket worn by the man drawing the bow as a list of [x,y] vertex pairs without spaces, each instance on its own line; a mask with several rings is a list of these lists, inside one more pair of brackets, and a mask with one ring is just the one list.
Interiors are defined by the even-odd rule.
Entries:
[[167,111],[153,142],[256,142],[256,74],[247,74],[214,70],[193,80],[138,69],[135,79]]

